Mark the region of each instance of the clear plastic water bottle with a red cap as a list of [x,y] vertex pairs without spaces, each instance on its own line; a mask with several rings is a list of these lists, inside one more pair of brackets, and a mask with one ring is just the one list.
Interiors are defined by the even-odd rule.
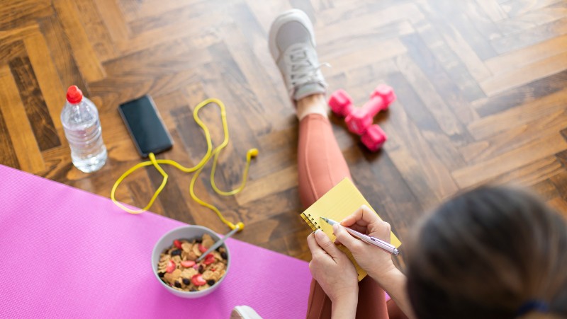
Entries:
[[77,86],[67,89],[61,122],[71,148],[73,165],[85,173],[99,170],[108,158],[102,141],[99,111]]

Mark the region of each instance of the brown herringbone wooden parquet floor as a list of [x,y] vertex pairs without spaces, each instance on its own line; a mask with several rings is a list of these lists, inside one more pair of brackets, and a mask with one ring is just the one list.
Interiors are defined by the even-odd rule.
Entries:
[[[109,197],[140,161],[120,103],[149,93],[174,138],[172,158],[193,166],[206,144],[192,111],[208,97],[228,107],[231,143],[217,183],[196,192],[247,228],[236,238],[310,260],[298,216],[297,128],[267,49],[277,13],[301,8],[315,24],[330,90],[357,105],[378,83],[398,101],[378,118],[389,140],[369,153],[333,118],[361,192],[403,240],[424,211],[485,182],[532,187],[567,214],[567,1],[565,0],[1,0],[0,163]],[[85,174],[72,166],[60,112],[77,84],[99,107],[109,160]],[[222,139],[216,108],[203,111]],[[189,175],[170,180],[152,211],[228,228],[189,197]],[[118,198],[144,206],[161,182],[152,169]],[[1,182],[1,181],[0,181]]]

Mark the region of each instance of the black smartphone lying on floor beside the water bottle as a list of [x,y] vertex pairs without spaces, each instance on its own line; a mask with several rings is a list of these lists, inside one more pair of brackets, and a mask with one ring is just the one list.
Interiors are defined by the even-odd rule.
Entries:
[[150,153],[157,154],[172,148],[172,137],[159,117],[150,95],[120,104],[118,112],[128,127],[140,156],[145,158]]

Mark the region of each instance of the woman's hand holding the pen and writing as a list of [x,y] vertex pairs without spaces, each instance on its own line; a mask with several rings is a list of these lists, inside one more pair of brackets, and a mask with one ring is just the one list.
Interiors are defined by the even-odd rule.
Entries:
[[[364,205],[343,219],[340,224],[390,243],[390,224],[382,221],[374,211]],[[355,238],[342,226],[333,225],[337,240],[349,248],[359,266],[365,269],[378,284],[391,272],[398,271],[393,265],[390,254]]]

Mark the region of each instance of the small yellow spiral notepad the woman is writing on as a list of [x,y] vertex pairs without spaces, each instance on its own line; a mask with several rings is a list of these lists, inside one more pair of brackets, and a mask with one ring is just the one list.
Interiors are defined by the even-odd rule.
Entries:
[[[315,229],[320,229],[324,233],[331,238],[332,241],[335,241],[335,235],[332,234],[332,226],[325,223],[319,217],[327,217],[329,219],[333,219],[335,221],[342,221],[345,217],[349,216],[350,214],[357,211],[359,207],[362,205],[366,205],[374,211],[374,209],[370,206],[366,199],[362,196],[356,186],[348,179],[345,178],[341,182],[339,182],[335,187],[332,187],[327,194],[323,195],[317,202],[313,203],[308,209],[305,209],[303,213],[301,213],[301,218],[307,223],[313,231]],[[376,212],[376,211],[374,211]],[[378,216],[379,218],[380,216]],[[394,245],[396,248],[400,247],[402,243],[394,235],[394,233],[390,233],[390,243]],[[349,259],[354,264],[354,267],[357,267],[357,273],[359,274],[359,281],[361,281],[364,277],[366,277],[366,271],[359,267],[357,262],[352,257],[352,253],[344,247],[343,245],[338,246],[340,250],[342,250]]]

